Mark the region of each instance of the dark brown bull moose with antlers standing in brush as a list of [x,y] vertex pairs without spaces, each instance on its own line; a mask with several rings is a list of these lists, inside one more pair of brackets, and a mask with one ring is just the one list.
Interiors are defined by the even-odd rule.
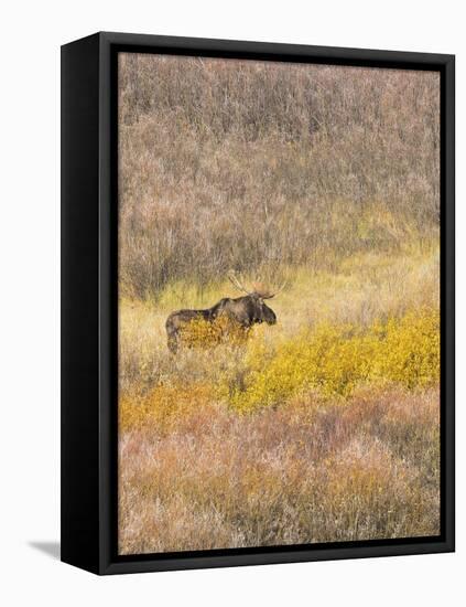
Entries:
[[254,288],[254,290],[249,291],[234,271],[228,273],[228,279],[246,295],[237,298],[225,297],[215,306],[205,310],[177,310],[169,316],[165,328],[171,352],[177,352],[183,329],[194,320],[215,322],[218,318],[227,318],[236,327],[243,329],[245,333],[253,324],[260,324],[261,322],[275,324],[275,312],[267,306],[264,300],[275,297],[283,289],[284,284],[275,292],[262,288]]

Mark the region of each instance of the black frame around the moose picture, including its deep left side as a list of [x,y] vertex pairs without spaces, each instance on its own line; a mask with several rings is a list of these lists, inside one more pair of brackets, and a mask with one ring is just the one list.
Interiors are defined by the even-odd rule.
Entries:
[[[441,535],[150,555],[117,553],[118,52],[441,74]],[[455,57],[97,33],[62,46],[62,561],[97,574],[454,551]]]

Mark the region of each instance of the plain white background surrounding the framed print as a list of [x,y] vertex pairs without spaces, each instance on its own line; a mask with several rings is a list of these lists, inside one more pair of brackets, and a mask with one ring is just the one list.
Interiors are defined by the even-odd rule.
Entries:
[[[465,35],[454,0],[3,3],[0,35],[0,601],[464,605]],[[98,30],[457,54],[457,553],[98,578],[59,537],[59,45]],[[45,552],[44,552],[45,547]]]

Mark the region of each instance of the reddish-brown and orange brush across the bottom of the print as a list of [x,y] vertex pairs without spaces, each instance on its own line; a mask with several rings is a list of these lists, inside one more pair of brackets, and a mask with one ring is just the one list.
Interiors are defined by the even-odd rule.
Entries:
[[438,393],[193,406],[120,440],[120,552],[438,533]]

